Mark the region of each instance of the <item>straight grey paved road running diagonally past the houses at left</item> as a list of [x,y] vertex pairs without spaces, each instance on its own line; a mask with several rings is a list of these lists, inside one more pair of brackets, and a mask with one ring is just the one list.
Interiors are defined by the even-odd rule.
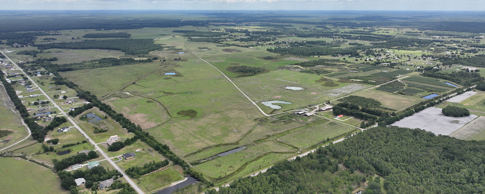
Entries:
[[[1,51],[0,51],[1,52]],[[1,52],[3,54],[3,52]],[[6,56],[6,55],[5,55]],[[13,65],[17,66],[20,71],[22,71],[22,73],[24,75],[27,75],[23,69],[21,69],[16,63],[14,63],[14,61],[12,61],[8,56],[6,56],[8,60],[10,60],[12,62]],[[42,94],[44,94],[47,99],[51,102],[54,102],[47,94],[46,92],[44,92],[44,90],[42,90],[42,88],[40,88],[37,83],[35,83],[31,77],[28,77],[30,81],[32,81],[32,84],[35,85],[37,88],[39,88],[39,90],[42,92]],[[57,109],[59,109],[59,111],[61,112],[61,114],[64,114],[65,117],[67,118],[67,120],[69,120],[71,122],[72,125],[74,125],[74,127],[76,127],[81,133],[82,135],[84,135],[84,137],[86,137],[86,139],[93,145],[96,147],[97,151],[99,151],[99,153],[101,153],[101,155],[103,155],[104,158],[106,159],[109,159],[110,157],[108,157],[108,155],[106,155],[106,153],[104,153],[104,151],[102,149],[99,148],[99,146],[97,146],[97,144],[91,139],[89,138],[89,136],[76,124],[76,122],[74,122],[74,120],[69,117],[69,115],[67,113],[64,112],[63,109],[61,109],[61,107],[59,107],[59,105],[57,105],[57,103],[52,103]],[[137,192],[138,194],[144,194],[143,191],[138,188],[138,186],[125,174],[125,172],[123,172],[112,160],[106,160],[108,162],[111,163],[111,165],[113,165],[113,167],[118,170],[122,175],[123,175],[123,178],[126,179],[126,181],[131,185],[131,187],[133,187]]]

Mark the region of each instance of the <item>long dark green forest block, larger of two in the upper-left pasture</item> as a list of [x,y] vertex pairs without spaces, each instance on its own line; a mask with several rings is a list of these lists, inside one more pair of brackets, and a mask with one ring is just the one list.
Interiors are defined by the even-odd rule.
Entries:
[[80,42],[62,42],[33,45],[38,49],[111,49],[121,50],[127,55],[148,54],[163,47],[153,44],[153,39],[111,39],[85,40]]

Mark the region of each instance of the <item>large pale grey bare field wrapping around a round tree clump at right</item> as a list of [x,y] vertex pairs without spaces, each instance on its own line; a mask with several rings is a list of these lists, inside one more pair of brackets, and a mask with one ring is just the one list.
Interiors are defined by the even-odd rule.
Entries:
[[441,114],[441,110],[440,108],[430,107],[397,121],[392,126],[419,128],[431,131],[436,135],[450,135],[477,117],[474,114],[465,117],[445,116]]

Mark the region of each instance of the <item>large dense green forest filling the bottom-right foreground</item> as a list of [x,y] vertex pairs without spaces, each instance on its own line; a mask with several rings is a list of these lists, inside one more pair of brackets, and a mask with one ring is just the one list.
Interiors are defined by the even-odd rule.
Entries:
[[[484,157],[484,141],[375,127],[210,194],[347,193],[350,185],[369,179],[356,172],[382,175],[388,194],[476,194],[485,192]],[[336,162],[345,168],[335,171]],[[381,194],[371,183],[365,193]]]

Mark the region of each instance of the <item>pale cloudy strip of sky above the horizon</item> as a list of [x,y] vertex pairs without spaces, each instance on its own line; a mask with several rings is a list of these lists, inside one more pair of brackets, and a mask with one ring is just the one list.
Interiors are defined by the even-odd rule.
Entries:
[[0,10],[485,10],[485,0],[0,0]]

